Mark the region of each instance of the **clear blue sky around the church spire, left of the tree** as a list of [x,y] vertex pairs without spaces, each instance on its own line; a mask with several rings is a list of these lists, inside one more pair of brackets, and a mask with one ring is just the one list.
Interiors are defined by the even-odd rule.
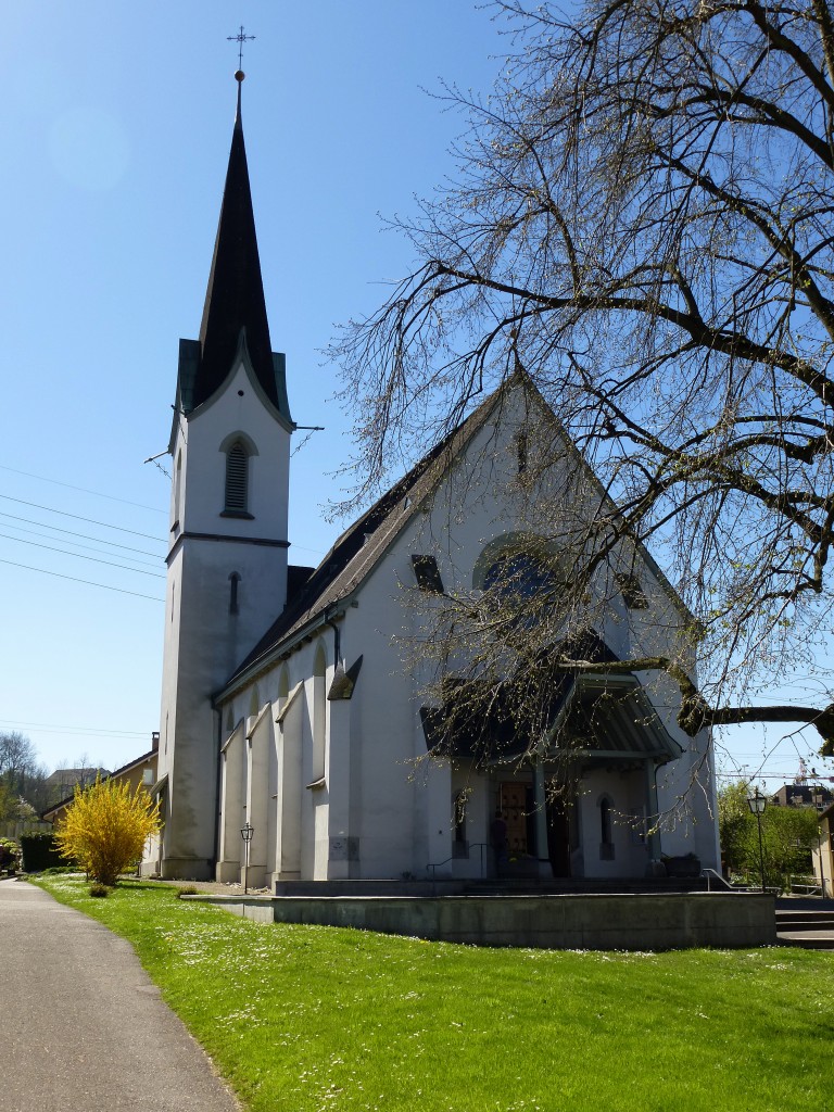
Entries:
[[[228,37],[256,36],[244,122],[272,346],[294,417],[326,426],[292,460],[290,558],[310,564],[339,532],[321,506],[350,453],[321,350],[410,261],[379,215],[453,172],[464,121],[429,93],[441,78],[488,91],[508,42],[470,0],[39,0],[3,16],[0,729],[50,766],[112,768],[158,728],[168,479],[143,460],[168,443],[178,338],[199,330]],[[734,745],[755,767],[759,742]],[[772,767],[792,773],[798,749]]]

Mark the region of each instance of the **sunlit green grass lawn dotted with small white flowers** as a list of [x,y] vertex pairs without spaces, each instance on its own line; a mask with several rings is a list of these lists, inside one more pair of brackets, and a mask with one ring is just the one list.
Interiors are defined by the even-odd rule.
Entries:
[[831,1108],[832,954],[480,950],[42,886],[133,944],[257,1112]]

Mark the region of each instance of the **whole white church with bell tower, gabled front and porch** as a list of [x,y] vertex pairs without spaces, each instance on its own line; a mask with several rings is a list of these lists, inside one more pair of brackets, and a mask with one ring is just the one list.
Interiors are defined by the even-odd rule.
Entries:
[[[514,376],[317,568],[289,563],[295,425],[285,360],[271,351],[238,90],[200,336],[180,341],[155,785],[163,828],[146,873],[237,881],[247,826],[256,887],[496,873],[639,878],[663,856],[686,854],[717,867],[709,735],[678,728],[668,677],[563,676],[550,741],[530,746],[498,738],[506,728],[486,719],[478,737],[451,726],[449,708],[426,695],[419,661],[406,663],[403,643],[419,641],[426,615],[481,590],[519,538],[536,539],[537,492],[569,489],[576,474],[598,492],[565,443],[552,468],[565,474],[519,494],[530,407],[545,435],[562,436]],[[672,654],[691,628],[637,546],[631,567],[627,586],[589,604],[587,658]],[[569,793],[556,796],[557,738],[570,724],[584,739]],[[658,827],[663,814],[677,818]]]

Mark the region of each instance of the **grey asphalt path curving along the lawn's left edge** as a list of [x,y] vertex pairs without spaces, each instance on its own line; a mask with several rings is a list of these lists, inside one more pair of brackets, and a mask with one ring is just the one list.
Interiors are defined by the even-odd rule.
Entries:
[[240,1112],[132,947],[0,881],[0,1112]]

